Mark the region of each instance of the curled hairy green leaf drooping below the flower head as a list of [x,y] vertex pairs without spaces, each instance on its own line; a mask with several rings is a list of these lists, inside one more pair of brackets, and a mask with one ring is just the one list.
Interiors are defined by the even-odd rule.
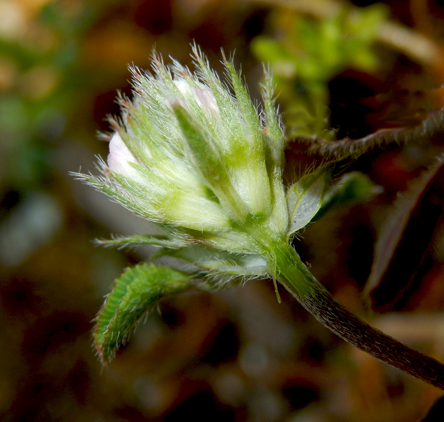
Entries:
[[94,345],[102,363],[111,361],[119,345],[161,298],[192,285],[187,275],[166,267],[140,264],[126,269],[96,319]]

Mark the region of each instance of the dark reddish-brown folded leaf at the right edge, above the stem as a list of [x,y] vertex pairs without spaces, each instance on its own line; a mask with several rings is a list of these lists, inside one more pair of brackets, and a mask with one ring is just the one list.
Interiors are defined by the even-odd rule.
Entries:
[[443,228],[444,162],[424,172],[394,204],[379,230],[366,291],[378,312],[399,309],[432,267]]

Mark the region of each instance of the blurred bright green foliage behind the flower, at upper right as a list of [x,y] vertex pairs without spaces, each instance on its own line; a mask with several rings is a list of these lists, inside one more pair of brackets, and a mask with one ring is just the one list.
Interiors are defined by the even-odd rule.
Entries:
[[278,36],[253,39],[254,54],[271,66],[290,138],[334,139],[327,83],[348,68],[377,70],[374,40],[387,14],[382,4],[362,9],[344,4],[337,13],[316,18],[279,11]]

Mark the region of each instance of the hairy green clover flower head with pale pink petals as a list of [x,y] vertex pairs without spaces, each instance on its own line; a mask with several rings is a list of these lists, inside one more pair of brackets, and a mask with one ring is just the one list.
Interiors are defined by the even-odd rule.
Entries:
[[120,96],[110,118],[102,177],[85,178],[166,230],[170,247],[261,253],[260,238],[282,237],[289,223],[271,78],[258,114],[231,61],[225,82],[197,47],[192,55],[194,73],[155,53],[152,73],[131,68],[133,99]]

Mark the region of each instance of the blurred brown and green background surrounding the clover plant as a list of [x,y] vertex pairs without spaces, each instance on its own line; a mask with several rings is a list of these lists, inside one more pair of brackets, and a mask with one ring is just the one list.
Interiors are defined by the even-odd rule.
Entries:
[[[147,225],[69,172],[97,171],[107,143],[96,134],[118,113],[117,90],[131,92],[128,64],[148,68],[153,47],[190,63],[196,41],[216,70],[221,48],[234,52],[255,98],[269,63],[292,140],[288,179],[319,160],[309,140],[367,137],[337,174],[359,170],[383,189],[323,216],[296,249],[353,312],[443,361],[441,170],[433,186],[417,183],[442,133],[372,145],[443,107],[443,19],[438,0],[0,0],[0,419],[419,421],[440,390],[345,344],[284,289],[278,304],[266,281],[163,301],[102,368],[93,319],[149,250],[92,240]],[[398,231],[413,234],[384,249],[400,192],[412,199]],[[399,271],[372,270],[392,255]]]

